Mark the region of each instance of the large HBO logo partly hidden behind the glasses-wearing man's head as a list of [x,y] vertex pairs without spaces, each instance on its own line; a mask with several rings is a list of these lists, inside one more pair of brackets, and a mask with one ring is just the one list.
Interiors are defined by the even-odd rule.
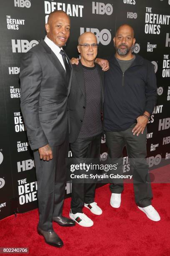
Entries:
[[[80,35],[85,32],[84,28],[80,28]],[[101,43],[107,45],[110,43],[112,36],[108,29],[102,29],[99,31],[97,28],[86,28],[86,32],[92,32],[97,37],[97,44]]]

